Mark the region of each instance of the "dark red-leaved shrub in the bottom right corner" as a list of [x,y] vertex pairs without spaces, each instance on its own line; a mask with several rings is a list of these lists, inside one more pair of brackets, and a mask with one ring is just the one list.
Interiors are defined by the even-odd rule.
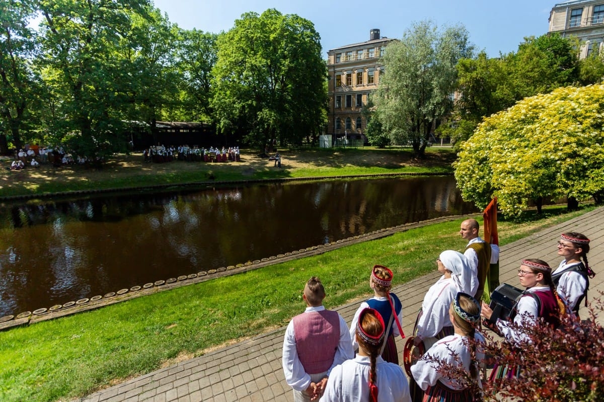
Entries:
[[[600,292],[602,293],[602,292]],[[484,401],[604,401],[604,328],[596,321],[604,302],[594,300],[589,317],[578,321],[566,314],[559,328],[546,325],[520,325],[530,342],[510,345],[486,333],[483,348],[487,364],[520,367],[519,378],[484,381]],[[432,360],[432,359],[428,359]],[[439,362],[439,371],[465,387],[479,391],[469,374],[455,365]]]

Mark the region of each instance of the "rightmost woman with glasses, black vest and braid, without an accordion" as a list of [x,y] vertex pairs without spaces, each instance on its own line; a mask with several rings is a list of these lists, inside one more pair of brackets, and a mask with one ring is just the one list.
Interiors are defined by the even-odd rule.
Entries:
[[[590,239],[577,232],[563,233],[558,241],[558,255],[564,260],[551,274],[557,292],[564,297],[568,307],[579,315],[581,301],[587,303],[590,278],[596,275],[587,262]],[[583,261],[581,261],[583,258]]]

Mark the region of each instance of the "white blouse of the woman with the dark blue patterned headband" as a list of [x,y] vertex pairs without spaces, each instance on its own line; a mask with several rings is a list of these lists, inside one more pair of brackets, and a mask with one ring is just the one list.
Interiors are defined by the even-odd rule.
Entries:
[[[476,333],[474,336],[478,342],[484,343],[484,337]],[[470,372],[471,352],[467,336],[461,336],[458,334],[446,336],[439,342],[434,343],[431,348],[423,355],[422,359],[418,360],[413,366],[411,366],[411,374],[416,380],[417,385],[426,391],[428,386],[434,386],[436,381],[440,381],[451,389],[463,389],[461,385],[448,377],[445,377],[442,373],[438,372],[439,362],[434,360],[425,360],[427,357],[431,359],[440,360],[440,362],[448,363],[450,365],[462,365],[463,368]],[[476,360],[478,363],[484,360],[483,349],[476,348]],[[480,381],[480,376],[478,378]],[[479,383],[480,386],[480,383]]]

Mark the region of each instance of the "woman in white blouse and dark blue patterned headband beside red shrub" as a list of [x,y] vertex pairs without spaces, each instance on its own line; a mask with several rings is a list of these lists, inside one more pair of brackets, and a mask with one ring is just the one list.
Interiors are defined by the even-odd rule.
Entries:
[[[417,395],[422,402],[474,401],[481,388],[478,363],[484,353],[477,343],[484,343],[484,337],[476,332],[480,324],[480,302],[467,293],[457,293],[449,307],[449,318],[455,333],[444,337],[411,366],[411,373],[423,393]],[[469,374],[468,383],[447,377],[441,365],[459,366]],[[474,384],[474,387],[469,386]]]

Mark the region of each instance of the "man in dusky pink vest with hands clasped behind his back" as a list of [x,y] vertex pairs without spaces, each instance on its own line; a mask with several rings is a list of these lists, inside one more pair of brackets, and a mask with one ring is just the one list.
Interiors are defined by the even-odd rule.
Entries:
[[325,289],[319,278],[306,282],[302,298],[306,310],[289,322],[283,339],[283,372],[294,402],[320,398],[332,369],[355,357],[346,322],[323,306]]

